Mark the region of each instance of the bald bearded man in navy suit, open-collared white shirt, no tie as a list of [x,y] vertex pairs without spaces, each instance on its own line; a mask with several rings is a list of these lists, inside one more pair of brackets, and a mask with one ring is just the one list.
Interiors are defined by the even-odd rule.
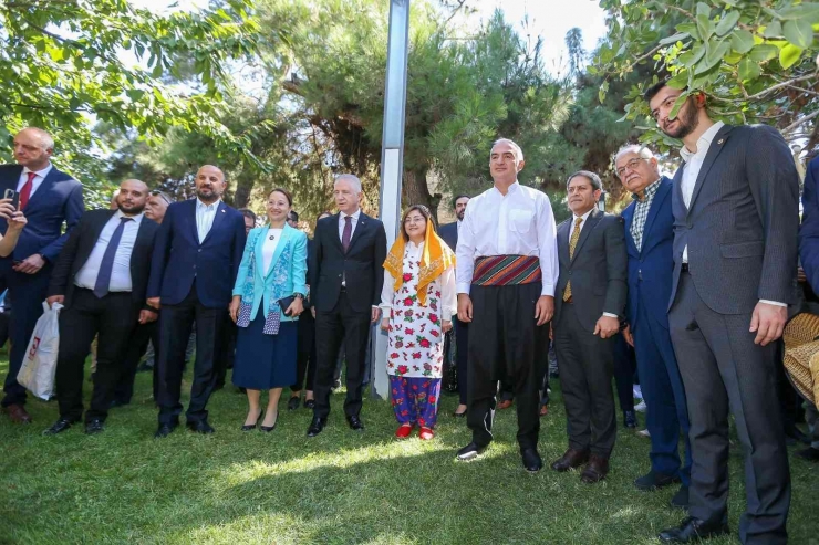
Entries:
[[187,426],[212,433],[207,406],[236,274],[245,251],[245,218],[221,201],[225,174],[205,165],[196,174],[196,199],[174,202],[156,235],[148,304],[159,307],[159,427],[157,438],[178,426],[185,348],[196,321],[196,364]]

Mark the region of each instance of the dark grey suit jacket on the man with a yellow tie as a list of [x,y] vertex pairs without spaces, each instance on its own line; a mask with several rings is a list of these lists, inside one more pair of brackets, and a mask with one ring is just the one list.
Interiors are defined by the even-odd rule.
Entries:
[[623,219],[593,209],[580,231],[574,255],[569,259],[569,239],[574,229],[572,217],[558,226],[560,276],[554,291],[554,323],[560,321],[563,291],[571,280],[578,318],[592,333],[604,312],[621,317],[625,314],[629,256],[625,252]]

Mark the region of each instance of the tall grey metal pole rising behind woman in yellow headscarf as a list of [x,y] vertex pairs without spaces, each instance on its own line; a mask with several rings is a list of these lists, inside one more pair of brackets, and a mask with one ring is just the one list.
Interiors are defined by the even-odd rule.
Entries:
[[[401,222],[401,178],[404,170],[404,111],[406,106],[406,63],[409,52],[409,0],[391,0],[390,38],[384,91],[384,133],[381,148],[380,219],[386,229],[387,248],[398,234]],[[374,359],[373,397],[387,398],[387,337],[380,327],[372,335]]]

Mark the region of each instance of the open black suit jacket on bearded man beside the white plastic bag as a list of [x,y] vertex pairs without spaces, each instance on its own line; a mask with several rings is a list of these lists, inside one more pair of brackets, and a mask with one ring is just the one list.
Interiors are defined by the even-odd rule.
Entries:
[[[105,223],[108,222],[115,210],[91,210],[80,219],[76,228],[71,231],[60,256],[54,263],[49,284],[49,296],[65,295],[64,306],[71,306],[74,293],[74,277],[91,255]],[[131,254],[131,292],[134,303],[144,307],[145,292],[151,275],[151,254],[154,250],[154,239],[159,224],[143,217],[139,230],[136,233],[134,250]]]

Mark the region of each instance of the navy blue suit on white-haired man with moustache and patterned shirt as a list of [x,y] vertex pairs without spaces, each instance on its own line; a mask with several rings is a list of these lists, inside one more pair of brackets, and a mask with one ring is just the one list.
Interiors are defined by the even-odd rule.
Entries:
[[[640,251],[631,234],[636,202],[623,210],[629,253],[625,313],[634,336],[640,385],[649,406],[646,428],[651,433],[652,470],[678,475],[687,486],[691,476],[688,411],[671,343],[667,314],[674,270],[672,189],[672,180],[664,177],[649,209]],[[677,449],[681,432],[685,437],[685,464],[682,469]]]

